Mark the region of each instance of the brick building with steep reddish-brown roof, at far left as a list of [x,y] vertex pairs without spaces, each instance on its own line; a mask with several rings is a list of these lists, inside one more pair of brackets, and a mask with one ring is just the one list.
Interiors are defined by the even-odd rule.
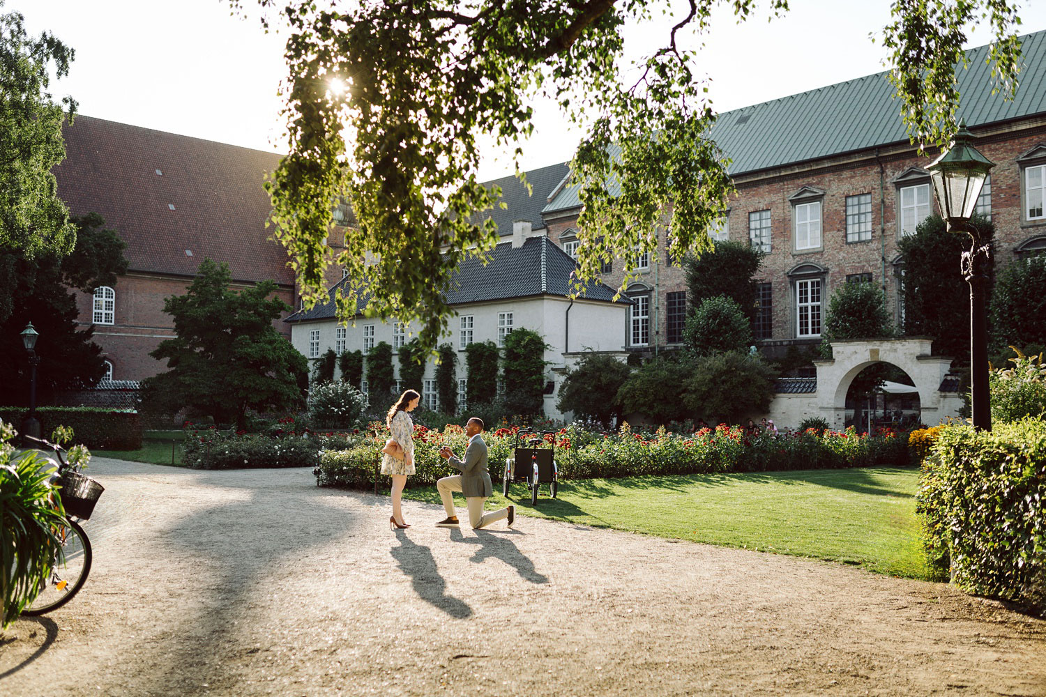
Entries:
[[[205,258],[229,264],[234,286],[272,279],[295,306],[287,253],[266,229],[265,176],[280,156],[77,116],[63,135],[59,194],[73,214],[97,212],[127,242],[115,286],[78,294],[79,324],[109,362],[107,377],[139,380],[165,370],[149,355],[174,336],[164,298],[182,295]],[[290,338],[282,322],[275,325]]]

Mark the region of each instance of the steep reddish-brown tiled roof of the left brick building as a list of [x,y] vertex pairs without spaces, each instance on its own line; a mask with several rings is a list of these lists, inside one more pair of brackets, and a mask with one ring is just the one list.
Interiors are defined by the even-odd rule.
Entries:
[[74,214],[101,214],[128,243],[132,270],[192,275],[210,257],[235,280],[294,283],[287,252],[265,227],[263,181],[279,155],[89,116],[63,135],[59,195]]

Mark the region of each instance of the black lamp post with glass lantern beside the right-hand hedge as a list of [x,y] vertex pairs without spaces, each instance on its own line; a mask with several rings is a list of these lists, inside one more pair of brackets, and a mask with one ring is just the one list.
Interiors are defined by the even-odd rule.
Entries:
[[987,388],[987,271],[992,262],[992,240],[970,224],[977,196],[988,171],[995,166],[971,143],[974,137],[965,123],[959,124],[955,142],[927,167],[933,180],[940,211],[950,232],[965,232],[973,239],[962,253],[961,269],[970,283],[970,373],[973,392],[974,427],[992,431],[992,406]]

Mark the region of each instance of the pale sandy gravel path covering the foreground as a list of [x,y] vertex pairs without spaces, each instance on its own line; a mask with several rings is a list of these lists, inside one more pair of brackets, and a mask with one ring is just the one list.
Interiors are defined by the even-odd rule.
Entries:
[[[1046,695],[1046,622],[947,585],[96,458],[94,568],[0,694]],[[700,515],[696,512],[696,515]]]

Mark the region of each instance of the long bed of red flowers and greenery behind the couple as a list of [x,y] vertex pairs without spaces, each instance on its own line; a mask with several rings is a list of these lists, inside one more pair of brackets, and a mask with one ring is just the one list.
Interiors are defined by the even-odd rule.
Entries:
[[[380,450],[388,438],[384,427],[372,433],[377,436],[368,435],[350,449],[324,450],[320,455],[319,484],[372,486]],[[518,433],[518,427],[502,427],[483,436],[491,477],[496,482],[501,481],[505,458],[511,456]],[[439,458],[439,447],[448,444],[461,457],[465,440],[460,426],[448,425],[442,432],[415,426],[416,474],[408,478],[407,486],[430,486],[440,477],[453,474],[455,470]],[[556,465],[564,480],[914,464],[906,435],[889,429],[872,435],[852,428],[818,435],[811,428],[791,435],[749,436],[742,428],[726,425],[687,435],[663,428],[655,433],[633,432],[628,424],[615,433],[570,425],[545,436],[545,442],[548,447],[554,443]]]

